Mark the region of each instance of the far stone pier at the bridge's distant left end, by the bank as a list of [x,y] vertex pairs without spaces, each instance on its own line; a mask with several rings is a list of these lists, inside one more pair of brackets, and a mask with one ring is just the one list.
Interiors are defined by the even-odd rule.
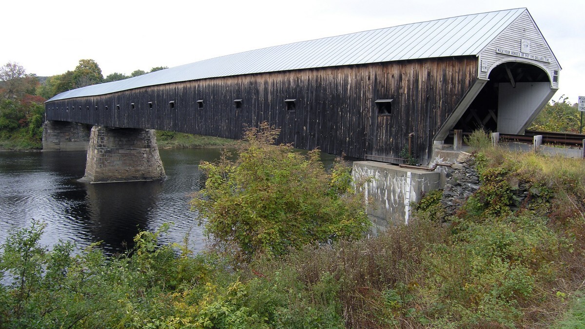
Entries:
[[67,121],[43,125],[43,151],[84,151],[90,143],[91,126]]

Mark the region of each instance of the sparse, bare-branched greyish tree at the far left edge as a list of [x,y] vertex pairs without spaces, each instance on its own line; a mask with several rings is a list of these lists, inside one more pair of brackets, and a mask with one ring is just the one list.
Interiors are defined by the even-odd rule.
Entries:
[[0,87],[4,89],[5,97],[34,94],[37,85],[39,79],[35,74],[27,74],[25,68],[18,63],[9,61],[0,67]]

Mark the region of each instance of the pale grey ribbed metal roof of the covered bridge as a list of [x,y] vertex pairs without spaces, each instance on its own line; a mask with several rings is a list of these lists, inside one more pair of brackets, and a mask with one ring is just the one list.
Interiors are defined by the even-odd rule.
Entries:
[[62,92],[49,101],[240,74],[477,55],[524,11],[477,13],[250,50]]

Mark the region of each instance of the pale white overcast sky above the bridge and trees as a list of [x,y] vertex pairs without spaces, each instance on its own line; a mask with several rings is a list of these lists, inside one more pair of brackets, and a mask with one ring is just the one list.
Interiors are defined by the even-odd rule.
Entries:
[[562,67],[559,91],[585,96],[583,0],[6,0],[0,65],[53,76],[93,59],[104,77],[246,50],[472,13],[528,8]]

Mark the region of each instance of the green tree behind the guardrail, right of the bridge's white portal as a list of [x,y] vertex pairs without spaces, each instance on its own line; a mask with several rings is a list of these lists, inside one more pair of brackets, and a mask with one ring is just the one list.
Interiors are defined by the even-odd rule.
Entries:
[[579,111],[567,102],[568,99],[562,95],[558,101],[550,101],[528,129],[579,133]]

